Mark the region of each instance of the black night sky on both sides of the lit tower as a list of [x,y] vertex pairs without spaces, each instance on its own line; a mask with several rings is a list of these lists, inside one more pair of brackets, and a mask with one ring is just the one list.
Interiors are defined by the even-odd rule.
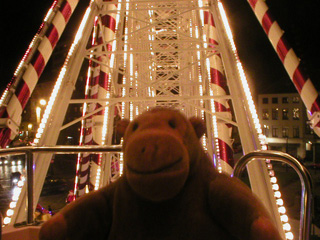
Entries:
[[[52,2],[8,1],[2,5],[0,89],[10,81]],[[81,5],[87,2],[81,0]],[[320,1],[266,0],[266,3],[285,31],[290,45],[302,59],[305,72],[320,90]],[[295,92],[247,1],[223,0],[223,4],[253,93]]]

